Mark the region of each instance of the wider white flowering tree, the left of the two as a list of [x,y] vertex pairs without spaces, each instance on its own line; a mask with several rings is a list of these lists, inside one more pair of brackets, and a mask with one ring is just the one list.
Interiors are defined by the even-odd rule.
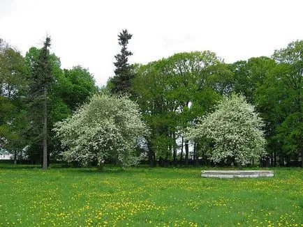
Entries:
[[117,158],[123,166],[135,164],[135,148],[148,134],[135,102],[117,95],[94,95],[71,118],[57,123],[54,131],[68,148],[63,152],[68,162],[84,166],[106,158]]

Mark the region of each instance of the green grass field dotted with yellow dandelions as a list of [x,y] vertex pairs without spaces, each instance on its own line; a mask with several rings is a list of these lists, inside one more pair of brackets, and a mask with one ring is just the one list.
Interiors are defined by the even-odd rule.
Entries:
[[0,226],[303,226],[302,169],[211,179],[202,168],[21,167],[0,164]]

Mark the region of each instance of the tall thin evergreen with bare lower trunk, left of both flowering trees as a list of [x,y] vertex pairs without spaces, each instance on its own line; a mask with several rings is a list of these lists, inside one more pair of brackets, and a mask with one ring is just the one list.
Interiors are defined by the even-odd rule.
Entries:
[[[53,81],[52,65],[49,61],[50,37],[45,39],[38,61],[31,74],[30,117],[32,128],[36,132],[36,140],[43,141],[43,169],[47,169],[47,93]],[[42,124],[42,133],[40,123]]]

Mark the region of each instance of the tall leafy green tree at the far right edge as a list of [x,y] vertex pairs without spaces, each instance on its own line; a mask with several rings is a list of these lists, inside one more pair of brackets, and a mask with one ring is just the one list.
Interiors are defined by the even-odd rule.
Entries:
[[283,100],[277,100],[286,116],[277,128],[276,137],[283,150],[292,157],[299,154],[303,157],[303,40],[290,42],[288,47],[276,50],[273,58],[278,63],[275,78],[286,91]]

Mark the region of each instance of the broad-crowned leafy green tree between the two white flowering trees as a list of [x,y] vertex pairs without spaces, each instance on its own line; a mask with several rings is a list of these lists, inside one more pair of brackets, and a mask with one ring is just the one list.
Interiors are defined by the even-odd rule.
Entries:
[[133,89],[152,129],[149,152],[158,157],[170,157],[177,146],[172,137],[183,136],[231,88],[226,81],[232,72],[213,52],[184,52],[136,66]]

